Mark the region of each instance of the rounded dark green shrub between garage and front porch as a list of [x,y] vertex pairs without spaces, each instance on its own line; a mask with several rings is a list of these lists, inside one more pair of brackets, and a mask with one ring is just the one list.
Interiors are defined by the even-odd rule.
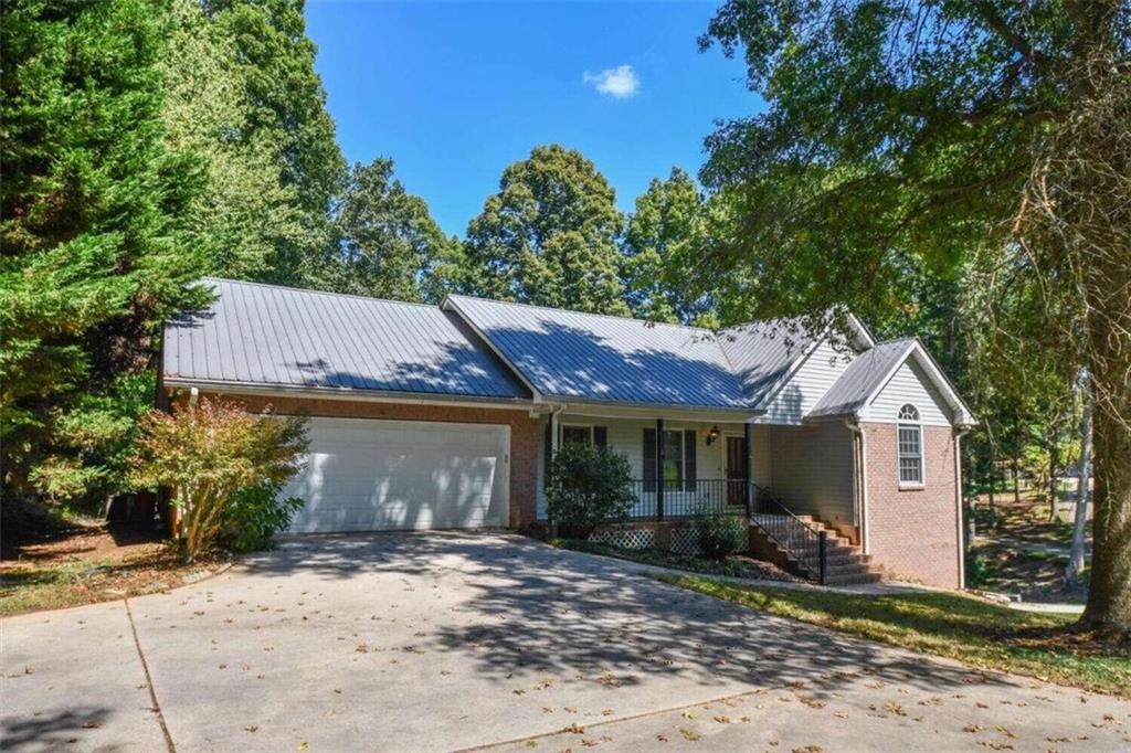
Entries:
[[554,455],[546,510],[563,536],[585,538],[601,523],[623,519],[633,504],[624,456],[580,443],[566,444]]

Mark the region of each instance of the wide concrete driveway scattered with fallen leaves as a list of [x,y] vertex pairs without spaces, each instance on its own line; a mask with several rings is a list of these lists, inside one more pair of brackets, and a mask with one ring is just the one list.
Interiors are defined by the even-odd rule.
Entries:
[[209,581],[2,632],[6,751],[1131,742],[1124,701],[845,638],[510,535],[295,539]]

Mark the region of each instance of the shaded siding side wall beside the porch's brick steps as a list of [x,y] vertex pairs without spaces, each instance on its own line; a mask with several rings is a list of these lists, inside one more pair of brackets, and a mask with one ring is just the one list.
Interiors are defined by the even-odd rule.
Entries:
[[774,493],[797,514],[854,523],[852,433],[839,423],[769,430]]

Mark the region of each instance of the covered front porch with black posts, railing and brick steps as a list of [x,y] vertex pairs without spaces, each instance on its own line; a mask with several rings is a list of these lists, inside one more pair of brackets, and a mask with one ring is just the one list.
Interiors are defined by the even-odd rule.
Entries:
[[634,476],[636,504],[596,535],[610,545],[691,554],[698,548],[694,519],[720,513],[748,523],[753,556],[795,574],[824,582],[835,565],[866,563],[855,551],[855,450],[847,429],[720,418],[546,415],[538,518],[546,521],[552,453],[563,443],[586,442],[623,455]]

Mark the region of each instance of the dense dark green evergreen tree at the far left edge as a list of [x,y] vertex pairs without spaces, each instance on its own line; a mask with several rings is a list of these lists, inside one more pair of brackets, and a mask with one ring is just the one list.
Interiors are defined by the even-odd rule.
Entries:
[[109,493],[157,322],[199,304],[198,163],[169,148],[163,2],[9,3],[0,25],[5,494]]

